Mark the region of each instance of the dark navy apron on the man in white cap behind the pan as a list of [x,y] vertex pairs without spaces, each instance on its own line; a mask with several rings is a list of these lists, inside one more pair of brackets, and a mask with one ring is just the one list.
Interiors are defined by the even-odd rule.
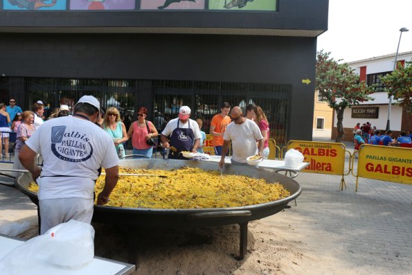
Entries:
[[170,135],[170,146],[173,146],[177,149],[177,152],[170,150],[169,159],[186,159],[180,153],[181,151],[192,151],[193,142],[195,141],[195,135],[193,130],[190,129],[190,120],[188,121],[188,128],[179,128],[180,120],[177,120],[177,128],[173,130]]

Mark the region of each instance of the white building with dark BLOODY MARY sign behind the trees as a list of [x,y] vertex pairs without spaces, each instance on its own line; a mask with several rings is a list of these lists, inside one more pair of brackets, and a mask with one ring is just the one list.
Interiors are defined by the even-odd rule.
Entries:
[[[412,51],[406,53],[398,53],[397,62],[405,66],[406,62],[412,61]],[[380,78],[393,71],[395,62],[395,53],[372,57],[365,60],[349,62],[348,65],[355,69],[359,74],[360,80],[366,81],[368,85],[377,85],[375,93],[370,96],[374,100],[359,103],[359,105],[351,106],[345,110],[343,114],[343,128],[345,130],[344,140],[352,140],[352,131],[357,123],[369,122],[378,130],[386,129],[386,121],[388,119],[388,93],[384,91],[384,85]],[[332,130],[332,139],[337,136],[337,117],[334,114],[334,124]],[[396,105],[396,100],[393,100],[391,105],[391,130],[395,133],[394,136],[402,130],[412,130],[411,112],[402,109]]]

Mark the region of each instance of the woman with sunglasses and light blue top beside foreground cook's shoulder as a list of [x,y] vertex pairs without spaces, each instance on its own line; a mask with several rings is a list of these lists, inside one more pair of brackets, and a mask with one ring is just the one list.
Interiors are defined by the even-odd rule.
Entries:
[[125,157],[125,148],[123,148],[123,142],[129,139],[127,137],[126,127],[123,122],[120,121],[120,113],[115,107],[107,109],[105,118],[103,118],[102,129],[111,136],[114,142],[114,147],[118,154],[119,159]]

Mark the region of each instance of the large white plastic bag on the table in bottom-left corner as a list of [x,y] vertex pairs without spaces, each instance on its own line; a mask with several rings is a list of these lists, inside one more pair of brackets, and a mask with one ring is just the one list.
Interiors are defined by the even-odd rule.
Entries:
[[44,265],[77,269],[94,257],[94,229],[70,220],[22,243],[0,259],[1,275],[30,274]]

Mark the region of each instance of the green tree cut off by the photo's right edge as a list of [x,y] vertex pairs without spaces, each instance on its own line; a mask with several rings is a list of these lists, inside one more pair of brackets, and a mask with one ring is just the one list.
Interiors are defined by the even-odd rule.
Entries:
[[406,62],[405,67],[398,63],[397,69],[382,77],[381,82],[386,86],[388,96],[397,100],[397,105],[412,112],[412,62]]

